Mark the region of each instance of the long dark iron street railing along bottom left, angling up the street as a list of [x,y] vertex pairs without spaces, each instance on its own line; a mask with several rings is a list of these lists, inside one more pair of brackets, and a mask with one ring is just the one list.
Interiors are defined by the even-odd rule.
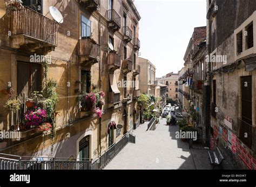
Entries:
[[98,170],[103,169],[136,136],[126,133],[95,160],[57,157],[18,156],[0,153],[0,170]]

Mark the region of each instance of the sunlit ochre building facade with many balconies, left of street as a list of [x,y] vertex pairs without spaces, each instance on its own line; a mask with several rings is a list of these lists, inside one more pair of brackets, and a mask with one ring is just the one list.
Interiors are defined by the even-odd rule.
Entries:
[[[11,83],[24,106],[20,115],[0,108],[0,130],[22,134],[21,140],[4,139],[2,153],[95,159],[139,125],[140,15],[131,0],[23,1],[24,8],[9,15],[2,6],[8,1],[0,2],[0,90]],[[52,19],[50,6],[63,23]],[[45,61],[31,62],[35,55],[50,56],[48,71]],[[22,121],[25,97],[42,90],[44,74],[58,85],[53,143],[47,134],[24,129]],[[118,84],[124,81],[128,86]],[[102,118],[79,100],[95,88],[105,92]],[[1,95],[0,104],[6,100]],[[116,129],[118,124],[123,127]]]

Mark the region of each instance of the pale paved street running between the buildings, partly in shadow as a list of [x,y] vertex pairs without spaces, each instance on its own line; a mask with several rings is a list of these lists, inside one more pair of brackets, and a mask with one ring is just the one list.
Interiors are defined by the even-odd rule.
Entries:
[[136,143],[129,143],[105,169],[211,169],[206,150],[191,152],[188,142],[175,138],[178,126],[167,126],[163,118],[155,131],[146,131],[147,123],[133,132]]

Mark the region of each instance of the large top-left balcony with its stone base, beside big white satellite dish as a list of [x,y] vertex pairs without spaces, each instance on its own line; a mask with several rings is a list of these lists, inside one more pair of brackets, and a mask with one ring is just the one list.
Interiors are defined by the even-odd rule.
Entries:
[[57,22],[26,6],[11,12],[10,29],[12,48],[45,54],[57,46]]

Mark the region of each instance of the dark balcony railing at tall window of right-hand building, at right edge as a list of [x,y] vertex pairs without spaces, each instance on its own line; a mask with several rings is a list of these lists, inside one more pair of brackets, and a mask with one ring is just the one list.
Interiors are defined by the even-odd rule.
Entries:
[[[237,118],[238,124],[238,138],[245,143],[245,145],[255,151],[255,127],[251,124],[246,123],[246,121]],[[245,136],[247,134],[247,137]]]

